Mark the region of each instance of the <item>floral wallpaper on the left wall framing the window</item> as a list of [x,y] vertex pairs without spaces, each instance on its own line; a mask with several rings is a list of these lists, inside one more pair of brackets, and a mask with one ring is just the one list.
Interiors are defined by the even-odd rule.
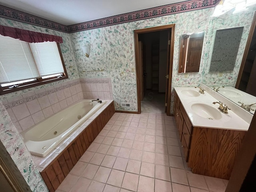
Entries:
[[66,79],[66,80],[61,80],[58,82],[44,84],[42,86],[37,86],[37,87],[33,87],[33,88],[16,91],[16,92],[13,92],[10,94],[4,94],[4,95],[0,96],[1,99],[6,99],[6,98],[13,97],[13,96],[18,96],[23,93],[40,90],[43,88],[47,88],[48,86],[53,86],[53,85],[57,86],[58,84],[60,84],[62,82],[66,82],[69,80],[74,80],[74,79],[79,78],[77,68],[76,68],[76,62],[74,60],[73,48],[71,46],[69,34],[60,32],[60,31],[56,31],[56,30],[42,28],[39,26],[26,24],[26,23],[21,23],[21,22],[17,22],[17,21],[5,19],[5,18],[0,18],[0,24],[3,26],[15,27],[15,28],[20,28],[20,29],[24,29],[24,30],[30,30],[30,31],[36,31],[36,32],[41,32],[41,33],[46,33],[46,34],[52,34],[52,35],[56,35],[56,36],[62,36],[63,43],[60,43],[60,49],[61,49],[64,63],[66,66],[66,70],[68,73],[68,79]]

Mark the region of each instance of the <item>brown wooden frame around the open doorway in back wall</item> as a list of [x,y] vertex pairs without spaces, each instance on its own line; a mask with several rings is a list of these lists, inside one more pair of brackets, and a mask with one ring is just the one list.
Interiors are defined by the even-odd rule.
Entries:
[[[172,66],[173,66],[173,54],[174,54],[174,34],[175,34],[175,24],[170,25],[164,25],[164,26],[157,26],[157,27],[150,27],[150,28],[143,28],[134,30],[134,44],[135,44],[135,62],[136,62],[136,82],[137,82],[137,100],[138,100],[138,114],[141,113],[141,102],[140,102],[140,78],[139,71],[138,71],[138,56],[139,56],[139,40],[138,35],[142,33],[149,33],[149,32],[155,32],[155,31],[161,31],[161,30],[170,30],[171,36],[170,36],[170,50],[169,50],[169,78],[168,78],[168,92],[167,94],[167,101],[171,100],[171,87],[172,87]],[[166,114],[170,116],[170,108],[171,108],[171,102],[167,102],[167,110]]]

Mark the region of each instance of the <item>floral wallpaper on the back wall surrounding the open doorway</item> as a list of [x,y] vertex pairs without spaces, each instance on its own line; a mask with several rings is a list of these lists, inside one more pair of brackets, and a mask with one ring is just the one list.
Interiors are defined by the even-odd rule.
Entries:
[[[134,30],[175,23],[172,89],[198,85],[202,80],[202,68],[199,73],[178,74],[180,36],[201,31],[208,36],[212,10],[184,12],[70,34],[80,78],[111,77],[116,110],[138,111],[136,73],[132,72],[135,68]],[[82,53],[82,46],[86,44],[91,45],[89,58]],[[82,72],[98,69],[104,71]],[[121,102],[131,103],[131,108],[122,108]]]

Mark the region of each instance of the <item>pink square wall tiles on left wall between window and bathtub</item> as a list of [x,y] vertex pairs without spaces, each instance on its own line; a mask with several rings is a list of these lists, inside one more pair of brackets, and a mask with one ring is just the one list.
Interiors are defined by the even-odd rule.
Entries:
[[28,92],[2,100],[8,114],[22,132],[45,118],[83,99],[79,80],[64,82],[58,87]]

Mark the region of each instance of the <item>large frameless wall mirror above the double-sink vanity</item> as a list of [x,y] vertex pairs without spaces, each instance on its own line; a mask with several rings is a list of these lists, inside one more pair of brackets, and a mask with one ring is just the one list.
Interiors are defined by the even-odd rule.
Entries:
[[[209,55],[208,59],[204,62],[204,76],[202,79],[202,83],[215,89],[219,94],[232,100],[252,114],[256,110],[256,88],[254,88],[254,83],[256,83],[256,64],[254,65],[256,63],[255,10],[256,6],[251,6],[246,12],[238,14],[228,12],[218,18],[212,18],[209,37],[207,38]],[[253,22],[252,18],[254,18]],[[232,64],[229,60],[223,60],[216,67],[214,65],[222,60],[218,58],[218,55],[226,56],[226,54],[223,54],[225,51],[223,50],[223,42],[221,42],[222,47],[215,44],[215,34],[218,34],[219,31],[223,32],[230,29],[235,30],[232,34],[236,38],[230,35],[226,36],[226,40],[227,42],[235,40],[237,46],[235,46],[234,42],[231,42],[225,49],[228,51],[232,50],[233,54],[236,54],[232,57],[227,56],[232,58],[230,59],[233,60]],[[225,35],[222,34],[222,36]],[[218,54],[213,52],[215,48],[218,49]],[[230,66],[226,68],[228,64]],[[212,70],[213,68],[214,70]],[[246,85],[244,82],[247,82]]]

